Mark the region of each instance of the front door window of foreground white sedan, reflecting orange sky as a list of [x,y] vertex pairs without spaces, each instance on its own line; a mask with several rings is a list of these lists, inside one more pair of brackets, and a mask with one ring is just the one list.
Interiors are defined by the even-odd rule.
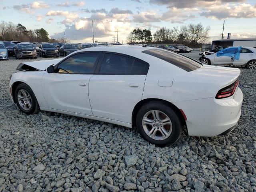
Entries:
[[98,53],[81,53],[71,56],[58,65],[59,73],[94,73]]

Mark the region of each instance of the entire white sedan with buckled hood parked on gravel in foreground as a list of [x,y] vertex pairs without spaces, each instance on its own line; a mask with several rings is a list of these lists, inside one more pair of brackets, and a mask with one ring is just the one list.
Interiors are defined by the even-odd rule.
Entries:
[[10,95],[25,114],[39,110],[137,128],[158,146],[230,132],[241,114],[237,68],[202,65],[153,47],[102,46],[62,59],[24,62]]

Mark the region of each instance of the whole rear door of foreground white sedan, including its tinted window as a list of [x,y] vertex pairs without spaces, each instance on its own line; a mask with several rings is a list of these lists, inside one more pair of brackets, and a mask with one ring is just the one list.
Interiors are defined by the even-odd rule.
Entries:
[[149,64],[115,53],[105,53],[90,79],[89,98],[94,116],[131,123],[132,110],[142,99]]

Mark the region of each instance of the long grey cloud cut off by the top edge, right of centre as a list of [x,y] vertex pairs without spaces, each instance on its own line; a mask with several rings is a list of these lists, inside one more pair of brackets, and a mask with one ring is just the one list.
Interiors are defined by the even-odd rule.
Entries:
[[194,7],[210,7],[223,3],[239,3],[246,0],[150,0],[151,4],[166,5],[168,8],[194,8]]

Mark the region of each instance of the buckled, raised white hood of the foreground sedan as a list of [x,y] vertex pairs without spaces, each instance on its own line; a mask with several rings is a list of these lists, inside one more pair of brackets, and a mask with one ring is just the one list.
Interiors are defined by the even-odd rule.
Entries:
[[16,68],[19,71],[24,71],[24,70],[30,70],[31,67],[36,69],[36,70],[46,70],[48,66],[55,65],[58,62],[60,62],[62,59],[53,59],[53,60],[43,60],[43,61],[32,61],[32,62],[24,62],[18,65]]

